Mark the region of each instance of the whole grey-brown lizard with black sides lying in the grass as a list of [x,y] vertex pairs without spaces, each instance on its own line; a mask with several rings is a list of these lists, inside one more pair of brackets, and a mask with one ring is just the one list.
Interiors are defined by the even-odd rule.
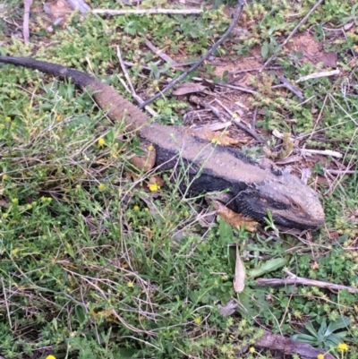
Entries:
[[260,167],[242,151],[205,141],[188,127],[150,123],[139,107],[88,73],[29,57],[0,56],[0,63],[71,79],[89,90],[111,121],[125,121],[126,130],[136,132],[146,153],[137,166],[185,170],[183,185],[190,195],[226,191],[223,204],[228,209],[258,222],[264,221],[269,210],[275,223],[284,227],[305,230],[324,224],[317,192],[295,175]]

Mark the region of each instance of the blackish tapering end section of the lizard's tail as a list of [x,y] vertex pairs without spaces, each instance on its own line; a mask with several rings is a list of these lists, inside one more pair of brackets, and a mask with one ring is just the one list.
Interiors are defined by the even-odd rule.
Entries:
[[0,56],[0,63],[27,67],[33,70],[38,70],[42,73],[49,73],[54,76],[62,77],[63,79],[71,78],[75,85],[83,88],[98,82],[88,73],[82,73],[78,70],[69,69],[61,64],[50,64],[46,61],[38,61],[27,57]]

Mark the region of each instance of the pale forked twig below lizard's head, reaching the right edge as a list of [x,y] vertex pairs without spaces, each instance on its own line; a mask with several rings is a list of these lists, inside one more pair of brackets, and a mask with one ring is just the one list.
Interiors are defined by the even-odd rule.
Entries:
[[349,293],[358,293],[358,288],[354,288],[352,286],[342,286],[340,284],[321,282],[320,280],[297,277],[289,270],[284,269],[284,271],[288,275],[287,278],[259,278],[256,279],[256,284],[259,286],[319,286],[320,288],[327,288],[334,291],[346,289]]

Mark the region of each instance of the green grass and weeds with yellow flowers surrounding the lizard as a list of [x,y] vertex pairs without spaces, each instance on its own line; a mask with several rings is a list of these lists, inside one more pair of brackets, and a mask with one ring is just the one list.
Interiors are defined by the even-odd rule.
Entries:
[[[313,3],[249,4],[243,21],[251,35],[237,44],[227,41],[220,54],[240,61],[265,41],[272,54]],[[117,3],[92,4],[105,8]],[[13,2],[18,9],[16,5],[20,2]],[[347,44],[354,43],[358,30],[348,31],[345,41],[331,38],[327,30],[351,19],[352,9],[347,2],[326,1],[302,29],[311,27],[317,38],[325,38],[327,48],[339,52],[345,72],[337,81],[298,84],[305,98],[311,98],[301,105],[291,93],[270,90],[277,75],[268,72],[252,78],[260,91],[252,105],[266,112],[257,123],[266,133],[291,132],[300,139],[300,148],[306,144],[340,151],[345,155],[339,159],[342,165],[354,167],[357,79]],[[288,17],[292,21],[287,23],[292,13],[298,16]],[[21,23],[21,11],[8,12],[6,18]],[[55,58],[94,73],[127,96],[116,76],[122,76],[115,55],[119,46],[124,59],[136,64],[129,69],[133,85],[147,98],[179,72],[156,68],[158,59],[143,45],[142,32],[167,54],[190,59],[203,54],[228,22],[219,9],[198,17],[193,30],[191,16],[82,20],[74,14],[64,29],[47,34],[35,17],[31,45],[24,46],[2,21],[0,51]],[[319,71],[285,54],[277,62],[293,83]],[[152,71],[143,72],[142,64],[151,64]],[[345,317],[350,319],[341,327],[349,346],[345,357],[358,357],[357,295],[311,286],[256,286],[250,277],[254,269],[263,278],[282,278],[284,267],[269,267],[279,261],[300,277],[358,286],[356,175],[339,181],[328,177],[329,187],[319,186],[327,221],[311,243],[294,235],[277,241],[249,234],[220,220],[209,228],[203,222],[206,207],[183,198],[170,173],[160,174],[165,185],[154,192],[149,191],[149,174],[132,174],[135,139],[124,140],[121,124],[111,124],[72,83],[2,65],[0,87],[0,355],[5,359],[49,354],[79,359],[272,358],[268,352],[238,352],[254,345],[259,328],[286,337],[311,329],[313,335]],[[163,121],[172,124],[182,123],[185,106],[170,94],[153,104]],[[268,144],[275,145],[268,134]],[[314,173],[323,175],[331,165],[331,159],[320,157]],[[234,243],[240,245],[248,272],[241,295],[234,294],[232,285],[234,251],[228,246]],[[218,304],[233,297],[241,305],[225,317]],[[328,338],[312,339],[312,344],[323,348]],[[337,347],[333,353],[338,354]]]

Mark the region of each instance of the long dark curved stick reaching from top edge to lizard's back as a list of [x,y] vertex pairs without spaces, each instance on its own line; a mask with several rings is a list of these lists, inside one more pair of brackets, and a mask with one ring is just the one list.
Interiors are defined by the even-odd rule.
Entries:
[[170,90],[173,89],[175,84],[179,81],[182,81],[187,75],[188,73],[192,73],[192,71],[194,71],[196,68],[198,68],[200,66],[200,64],[202,64],[205,60],[208,60],[209,56],[217,49],[217,47],[219,47],[225,40],[226,38],[230,35],[231,31],[234,29],[234,26],[236,24],[236,22],[239,20],[239,17],[242,13],[243,10],[243,0],[238,0],[238,7],[236,10],[236,13],[234,14],[234,19],[231,22],[230,26],[228,27],[228,29],[226,30],[225,34],[218,39],[218,41],[209,48],[208,52],[202,56],[200,58],[200,60],[196,63],[193,64],[191,68],[189,68],[187,71],[185,71],[184,73],[182,73],[179,77],[177,77],[175,80],[171,81],[169,83],[169,85],[166,86],[165,89],[161,90],[160,92],[158,92],[156,95],[154,95],[152,98],[147,99],[146,101],[144,101],[144,103],[141,104],[140,108],[146,107],[147,105],[149,105],[151,102],[153,102],[154,100],[156,100],[157,98],[159,98],[160,96],[163,96],[163,94]]

